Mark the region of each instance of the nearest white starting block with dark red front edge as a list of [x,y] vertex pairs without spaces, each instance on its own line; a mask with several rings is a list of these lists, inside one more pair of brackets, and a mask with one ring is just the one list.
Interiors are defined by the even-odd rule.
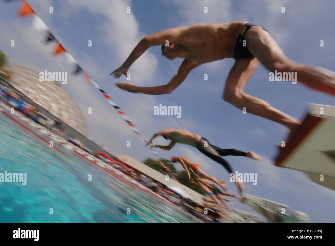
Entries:
[[303,171],[313,182],[335,190],[335,106],[310,103],[303,124],[280,148],[275,164]]

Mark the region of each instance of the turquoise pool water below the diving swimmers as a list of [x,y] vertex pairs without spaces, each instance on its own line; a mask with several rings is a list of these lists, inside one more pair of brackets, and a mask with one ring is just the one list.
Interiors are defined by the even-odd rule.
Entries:
[[[50,141],[18,116],[11,116]],[[0,222],[200,222],[126,182],[118,171],[109,174],[61,144],[54,142],[54,146],[73,160],[0,110],[0,173],[27,174],[26,185],[0,182]]]

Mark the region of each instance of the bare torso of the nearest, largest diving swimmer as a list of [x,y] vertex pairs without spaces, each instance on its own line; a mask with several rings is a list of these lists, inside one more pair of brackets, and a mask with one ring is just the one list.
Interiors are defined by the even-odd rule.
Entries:
[[231,58],[238,34],[247,21],[231,23],[199,23],[185,27],[176,42],[182,45],[190,59],[199,64]]

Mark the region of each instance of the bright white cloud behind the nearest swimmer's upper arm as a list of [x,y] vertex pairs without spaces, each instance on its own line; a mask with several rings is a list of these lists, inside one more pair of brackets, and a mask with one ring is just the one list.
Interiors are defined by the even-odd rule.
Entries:
[[[132,6],[131,1],[71,0],[64,7],[86,8],[91,14],[104,17],[104,21],[99,24],[101,35],[113,52],[113,57],[118,57],[117,62],[113,61],[114,59],[111,57],[113,65],[120,66],[143,38],[140,36],[139,24],[135,16],[132,12],[126,12],[128,6]],[[66,14],[64,17],[67,18],[69,15]],[[157,58],[147,51],[135,61],[128,72],[131,74],[132,80],[141,84],[153,78],[156,68]]]

